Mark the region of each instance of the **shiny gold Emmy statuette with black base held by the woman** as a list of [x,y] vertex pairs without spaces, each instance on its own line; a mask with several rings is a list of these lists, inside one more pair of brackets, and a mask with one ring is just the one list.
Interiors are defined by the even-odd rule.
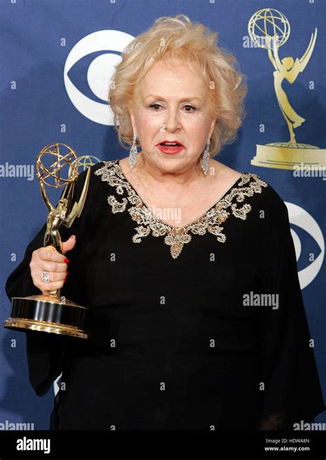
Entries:
[[[61,174],[62,169],[67,170],[67,177]],[[58,230],[62,225],[70,228],[74,219],[80,217],[87,197],[90,172],[88,168],[83,190],[76,201],[74,199],[74,186],[78,179],[76,152],[66,144],[57,143],[45,146],[37,156],[36,175],[43,200],[50,211],[47,215],[43,241],[44,246],[50,246],[49,250],[57,250],[62,254],[61,236]],[[45,185],[56,189],[65,187],[56,208],[52,206],[45,193]],[[85,327],[87,309],[65,297],[61,298],[60,292],[61,289],[54,289],[49,295],[12,297],[10,318],[3,323],[3,326],[18,331],[43,331],[90,338],[91,331]]]

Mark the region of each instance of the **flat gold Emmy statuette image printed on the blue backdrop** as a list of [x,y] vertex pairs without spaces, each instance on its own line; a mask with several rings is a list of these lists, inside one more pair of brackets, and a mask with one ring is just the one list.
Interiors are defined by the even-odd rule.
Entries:
[[301,164],[303,168],[324,169],[325,149],[296,142],[294,129],[300,127],[305,122],[305,118],[294,111],[282,87],[284,79],[292,84],[298,74],[305,69],[314,51],[317,29],[312,34],[303,56],[300,59],[296,58],[295,61],[291,56],[279,58],[279,47],[283,46],[290,36],[290,23],[281,12],[265,8],[254,13],[248,23],[248,33],[258,47],[268,50],[268,57],[275,69],[273,75],[277,102],[287,123],[290,137],[283,142],[256,144],[256,156],[251,160],[251,164],[281,169],[294,169],[294,165]]

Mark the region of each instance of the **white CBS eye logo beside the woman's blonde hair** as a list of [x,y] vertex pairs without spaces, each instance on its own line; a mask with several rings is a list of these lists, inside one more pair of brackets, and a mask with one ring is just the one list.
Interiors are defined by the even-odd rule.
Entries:
[[[107,102],[109,85],[114,67],[121,61],[120,53],[133,38],[119,30],[99,30],[78,41],[69,52],[64,69],[65,89],[76,109],[89,120],[113,126],[113,113]],[[87,58],[89,65],[88,62],[83,63]],[[85,68],[85,65],[88,65],[86,76],[74,72],[74,67]],[[74,79],[78,80],[78,86],[84,92],[74,85],[74,73]]]

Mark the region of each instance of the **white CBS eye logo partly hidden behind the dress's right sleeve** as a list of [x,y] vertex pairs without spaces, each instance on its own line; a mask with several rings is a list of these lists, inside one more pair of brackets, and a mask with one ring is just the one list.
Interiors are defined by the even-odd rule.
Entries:
[[325,254],[323,232],[309,212],[293,203],[285,201],[285,205],[289,212],[290,223],[295,226],[295,229],[291,228],[291,234],[296,250],[296,261],[299,267],[303,266],[298,270],[298,279],[301,289],[304,289],[314,281],[323,264]]

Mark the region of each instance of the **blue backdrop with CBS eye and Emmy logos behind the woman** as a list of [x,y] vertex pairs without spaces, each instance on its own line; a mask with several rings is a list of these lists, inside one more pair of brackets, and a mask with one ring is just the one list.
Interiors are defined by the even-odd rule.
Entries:
[[[180,13],[219,32],[219,45],[248,76],[247,116],[237,142],[217,159],[257,173],[287,205],[325,395],[325,1],[0,0],[0,6],[0,429],[48,429],[60,382],[37,397],[28,382],[25,334],[2,327],[10,314],[6,279],[47,217],[36,157],[47,144],[68,144],[81,172],[129,155],[107,103],[114,65],[155,19]],[[278,45],[268,49],[274,34]],[[325,422],[325,413],[316,421]]]

